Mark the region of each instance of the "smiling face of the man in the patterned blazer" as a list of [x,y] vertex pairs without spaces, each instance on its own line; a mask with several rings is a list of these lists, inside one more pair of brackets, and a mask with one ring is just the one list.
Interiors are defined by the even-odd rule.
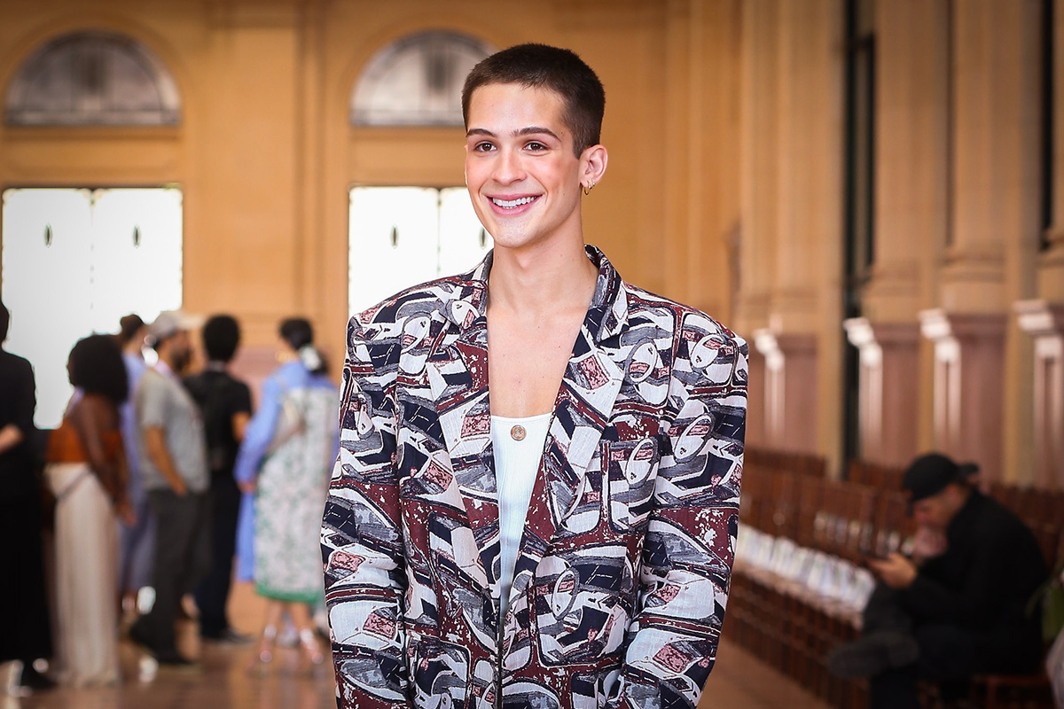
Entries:
[[[469,101],[466,186],[497,247],[582,240],[580,175],[562,98],[545,88],[487,84]],[[585,151],[586,152],[586,151]]]

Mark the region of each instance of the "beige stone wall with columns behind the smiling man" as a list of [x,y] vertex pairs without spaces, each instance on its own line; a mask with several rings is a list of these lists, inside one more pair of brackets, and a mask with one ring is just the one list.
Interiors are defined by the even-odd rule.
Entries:
[[[1060,37],[1064,0],[1054,2]],[[1042,299],[1055,313],[1064,302],[1064,179],[1054,181],[1052,246],[1038,250],[1042,3],[970,0],[952,14],[947,0],[876,4],[877,247],[862,332],[872,345],[883,338],[891,361],[869,450],[902,462],[945,444],[935,433],[941,348],[918,335],[920,314],[941,309],[944,322],[978,333],[987,330],[972,323],[986,316],[1004,323],[997,350],[980,350],[982,361],[1000,357],[999,418],[966,412],[969,436],[996,441],[999,452],[980,453],[995,475],[1033,479],[1035,353],[1014,304]],[[176,128],[0,125],[0,186],[177,183],[186,307],[239,317],[251,369],[268,367],[278,319],[297,313],[338,354],[348,189],[463,180],[461,130],[349,124],[350,92],[369,58],[428,29],[497,47],[571,47],[608,96],[610,169],[584,202],[587,239],[628,280],[758,342],[750,442],[818,452],[837,471],[850,347],[845,9],[845,0],[519,0],[505,12],[492,0],[0,0],[0,89],[41,43],[105,29],[154,51],[183,102]],[[1055,121],[1059,172],[1064,112]]]

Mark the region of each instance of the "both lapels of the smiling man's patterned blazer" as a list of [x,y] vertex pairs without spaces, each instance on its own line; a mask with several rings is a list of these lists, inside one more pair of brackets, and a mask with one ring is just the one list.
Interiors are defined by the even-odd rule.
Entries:
[[[599,264],[591,307],[573,344],[554,401],[554,411],[536,474],[528,524],[518,550],[511,597],[527,588],[536,564],[580,502],[587,467],[620,391],[624,370],[603,342],[628,323],[628,296],[605,256],[587,247]],[[499,591],[499,494],[492,445],[487,381],[487,273],[492,254],[444,303],[456,335],[440,340],[426,362],[451,469],[493,598]]]

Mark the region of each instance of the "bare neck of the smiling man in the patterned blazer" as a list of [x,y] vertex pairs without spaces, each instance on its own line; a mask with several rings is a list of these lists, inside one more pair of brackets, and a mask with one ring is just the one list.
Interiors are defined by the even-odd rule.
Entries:
[[595,293],[598,269],[583,241],[496,248],[488,274],[488,305],[535,315],[558,308],[586,308]]

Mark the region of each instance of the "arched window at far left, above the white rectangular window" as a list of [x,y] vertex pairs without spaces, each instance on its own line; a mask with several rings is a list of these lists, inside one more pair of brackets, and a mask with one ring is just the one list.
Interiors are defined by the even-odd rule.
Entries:
[[129,37],[77,32],[52,39],[22,64],[7,90],[9,125],[173,125],[177,84]]

